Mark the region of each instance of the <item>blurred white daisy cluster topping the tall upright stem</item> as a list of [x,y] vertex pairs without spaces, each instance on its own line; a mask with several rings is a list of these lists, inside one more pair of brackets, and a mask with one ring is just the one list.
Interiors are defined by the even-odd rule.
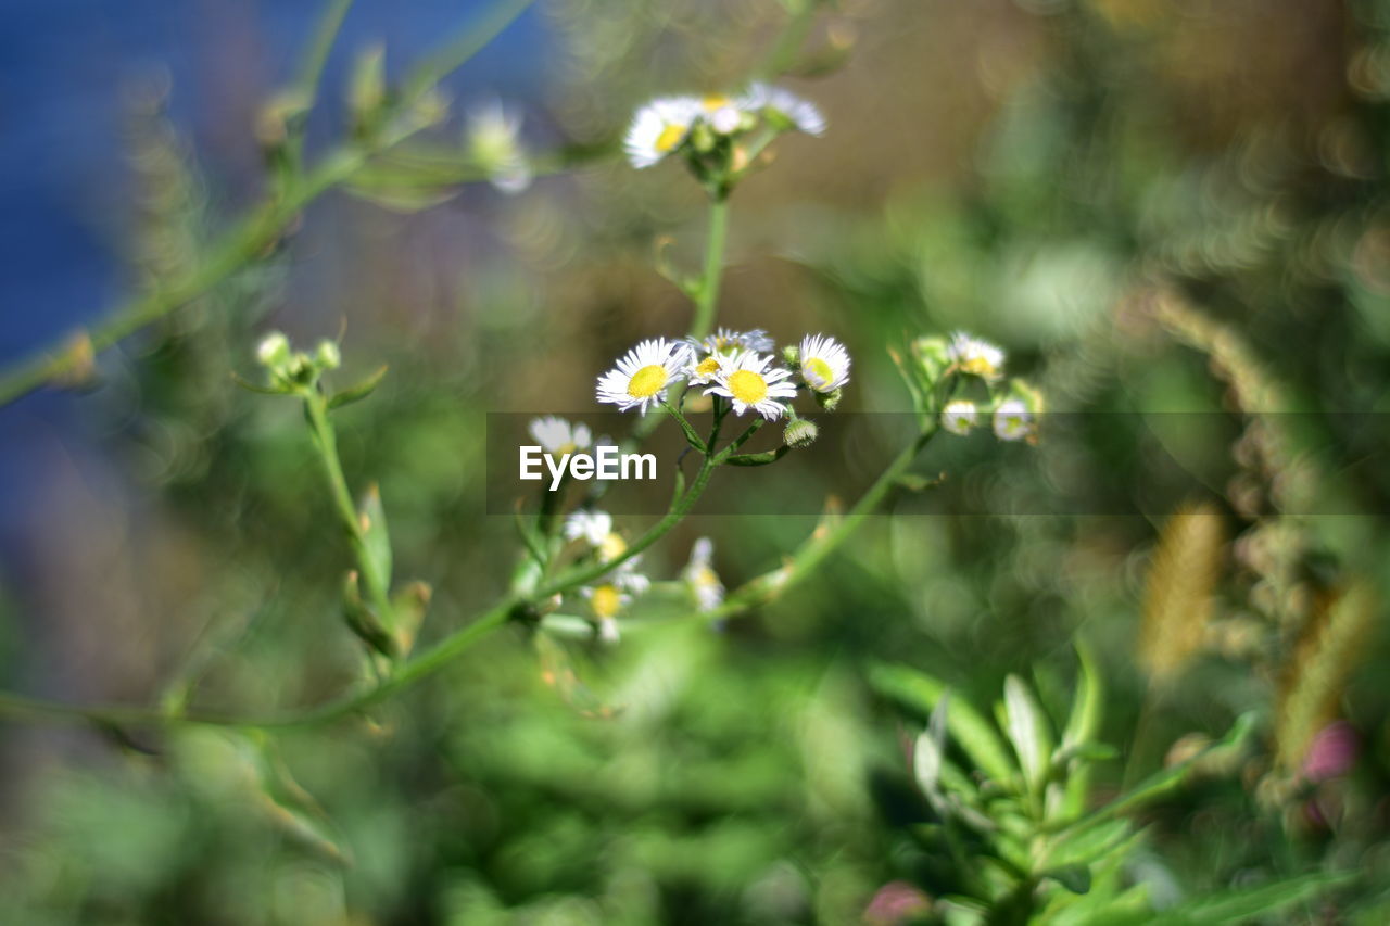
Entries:
[[734,96],[663,96],[646,103],[634,114],[623,150],[637,168],[681,153],[702,181],[727,182],[777,135],[824,131],[826,118],[815,103],[756,82]]

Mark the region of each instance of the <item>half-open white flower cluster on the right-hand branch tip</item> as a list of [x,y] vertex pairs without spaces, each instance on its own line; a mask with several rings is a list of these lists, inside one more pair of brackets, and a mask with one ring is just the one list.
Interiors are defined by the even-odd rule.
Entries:
[[[1037,442],[1042,395],[1023,380],[1005,381],[1001,348],[956,331],[949,338],[919,338],[912,353],[917,392],[945,395],[940,406],[942,428],[965,435],[988,421],[1001,441]],[[962,387],[976,398],[956,398]]]

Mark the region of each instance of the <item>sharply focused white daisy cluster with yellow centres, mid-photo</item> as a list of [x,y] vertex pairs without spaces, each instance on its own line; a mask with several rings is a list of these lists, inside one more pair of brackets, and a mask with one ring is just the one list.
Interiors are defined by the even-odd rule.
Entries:
[[[598,380],[598,400],[639,413],[666,400],[670,387],[685,382],[730,403],[734,414],[755,413],[773,421],[788,416],[799,389],[824,409],[834,409],[849,382],[849,352],[834,338],[806,335],[778,359],[767,332],[720,328],[708,338],[642,341]],[[780,366],[778,360],[788,366]]]

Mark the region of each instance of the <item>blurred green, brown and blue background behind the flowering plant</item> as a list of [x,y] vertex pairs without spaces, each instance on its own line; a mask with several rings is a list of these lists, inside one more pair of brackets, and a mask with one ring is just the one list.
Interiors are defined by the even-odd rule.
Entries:
[[[345,381],[391,364],[339,439],[349,478],[381,484],[398,571],[435,587],[424,637],[495,599],[516,544],[484,513],[485,414],[592,412],[614,356],[688,321],[653,260],[698,266],[702,193],[678,167],[623,163],[628,115],[653,93],[737,86],[798,6],[542,0],[449,78],[455,115],[431,143],[459,147],[461,114],[502,100],[553,174],[514,196],[334,192],[274,253],[103,353],[83,388],[0,409],[4,688],[257,713],[361,672],[299,410],[228,375],[252,375],[268,328],[343,332]],[[398,75],[484,8],[357,4],[311,154],[346,131],[363,47],[381,42]],[[316,14],[0,4],[0,363],[195,266],[257,202],[263,107]],[[1373,464],[1390,437],[1375,417],[1390,410],[1387,29],[1390,6],[1350,0],[820,10],[784,82],[830,131],[778,142],[737,190],[720,321],[841,338],[847,406],[869,412],[910,410],[890,348],[965,327],[1090,424],[1024,453],[981,442],[947,498],[997,514],[895,501],[901,516],[873,519],[806,587],[717,630],[663,626],[616,649],[503,633],[370,724],[271,740],[6,723],[0,918],[858,922],[884,884],[951,890],[912,836],[913,720],[863,666],[930,669],[980,702],[1034,673],[1063,704],[1086,634],[1125,754],[1102,790],[1243,710],[1265,722],[1259,755],[1148,812],[1133,877],[1162,900],[1359,869],[1284,915],[1383,922],[1379,605],[1314,712],[1344,724],[1346,761],[1312,793],[1277,783],[1280,756],[1297,767],[1311,742],[1282,715],[1297,642],[1336,590],[1377,588],[1390,564],[1390,469]],[[815,452],[863,466],[853,446]],[[1190,480],[1155,489],[1159,457]],[[1201,566],[1219,603],[1202,653],[1159,691],[1137,642],[1158,608],[1145,577],[1191,484],[1222,523]],[[1006,514],[1040,494],[1077,513]],[[815,523],[696,517],[644,569],[676,577],[709,535],[734,585]]]

